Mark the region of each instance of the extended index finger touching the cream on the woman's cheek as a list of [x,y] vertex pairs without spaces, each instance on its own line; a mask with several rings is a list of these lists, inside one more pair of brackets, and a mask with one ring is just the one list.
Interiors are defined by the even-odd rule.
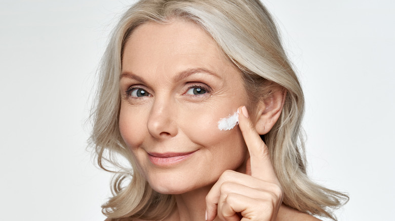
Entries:
[[239,127],[250,153],[251,176],[279,184],[271,163],[269,150],[249,118],[246,106],[239,107]]

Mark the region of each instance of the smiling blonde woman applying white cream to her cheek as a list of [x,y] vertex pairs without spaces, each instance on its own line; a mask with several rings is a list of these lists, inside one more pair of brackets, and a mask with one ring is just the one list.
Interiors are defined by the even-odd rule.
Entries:
[[[121,168],[103,213],[108,220],[335,219],[331,208],[347,196],[307,178],[303,108],[258,0],[139,1],[103,57],[91,142],[101,168],[108,170],[104,161]],[[233,114],[239,126],[220,130]]]

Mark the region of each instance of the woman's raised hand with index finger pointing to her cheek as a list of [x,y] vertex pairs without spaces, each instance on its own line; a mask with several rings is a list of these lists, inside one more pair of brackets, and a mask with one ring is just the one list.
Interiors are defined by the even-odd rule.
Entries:
[[254,128],[245,106],[239,107],[239,126],[250,158],[246,174],[225,171],[206,197],[206,220],[273,221],[283,201],[267,146]]

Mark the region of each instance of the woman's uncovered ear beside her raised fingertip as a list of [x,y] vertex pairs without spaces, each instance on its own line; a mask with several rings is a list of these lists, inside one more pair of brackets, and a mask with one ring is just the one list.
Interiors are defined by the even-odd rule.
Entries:
[[259,135],[267,134],[279,120],[286,95],[286,90],[275,90],[269,97],[259,102],[255,121],[255,128]]

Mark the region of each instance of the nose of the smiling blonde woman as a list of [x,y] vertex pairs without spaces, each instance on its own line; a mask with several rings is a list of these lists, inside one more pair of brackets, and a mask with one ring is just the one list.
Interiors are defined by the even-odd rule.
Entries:
[[170,100],[155,100],[147,121],[148,132],[157,139],[171,138],[177,135],[176,110]]

